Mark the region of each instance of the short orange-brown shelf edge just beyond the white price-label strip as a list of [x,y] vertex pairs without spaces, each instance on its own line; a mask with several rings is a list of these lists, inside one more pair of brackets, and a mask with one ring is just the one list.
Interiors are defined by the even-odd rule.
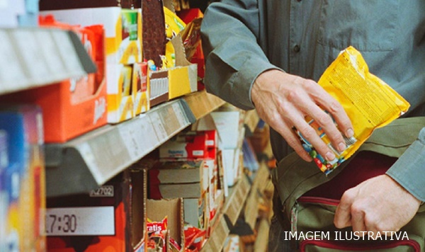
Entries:
[[188,107],[191,109],[196,120],[203,118],[211,111],[225,104],[225,101],[217,96],[207,93],[205,90],[191,93],[183,99],[188,104]]

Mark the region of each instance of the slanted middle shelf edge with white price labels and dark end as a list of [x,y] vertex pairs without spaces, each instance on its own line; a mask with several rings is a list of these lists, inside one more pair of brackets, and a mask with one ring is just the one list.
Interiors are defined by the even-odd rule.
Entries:
[[47,196],[97,188],[193,122],[179,99],[65,144],[46,144]]

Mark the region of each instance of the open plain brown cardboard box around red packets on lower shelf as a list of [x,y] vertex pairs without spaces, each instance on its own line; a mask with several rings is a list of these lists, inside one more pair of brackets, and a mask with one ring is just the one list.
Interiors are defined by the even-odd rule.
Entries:
[[154,222],[161,222],[164,217],[167,217],[169,236],[181,247],[184,247],[183,200],[181,198],[171,200],[148,199],[146,205],[147,218]]

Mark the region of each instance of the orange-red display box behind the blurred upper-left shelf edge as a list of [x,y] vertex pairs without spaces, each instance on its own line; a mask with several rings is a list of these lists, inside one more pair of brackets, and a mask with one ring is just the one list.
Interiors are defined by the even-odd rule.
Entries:
[[[43,111],[45,142],[62,143],[106,125],[106,78],[103,27],[58,23],[52,16],[40,18],[43,27],[73,30],[98,69],[58,84],[41,86],[2,97],[5,102],[36,103]],[[54,46],[54,45],[52,45]],[[69,49],[72,50],[72,49]],[[53,62],[52,62],[53,63]]]

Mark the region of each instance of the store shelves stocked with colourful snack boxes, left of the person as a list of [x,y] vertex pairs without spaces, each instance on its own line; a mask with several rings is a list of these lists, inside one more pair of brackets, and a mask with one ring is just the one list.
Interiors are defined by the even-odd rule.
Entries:
[[142,6],[42,2],[43,28],[0,28],[1,100],[40,107],[36,147],[0,127],[0,251],[222,251],[238,223],[256,235],[268,168],[247,167],[242,144],[259,119],[197,91],[202,13],[179,10],[193,34],[169,38],[161,69],[143,55]]

